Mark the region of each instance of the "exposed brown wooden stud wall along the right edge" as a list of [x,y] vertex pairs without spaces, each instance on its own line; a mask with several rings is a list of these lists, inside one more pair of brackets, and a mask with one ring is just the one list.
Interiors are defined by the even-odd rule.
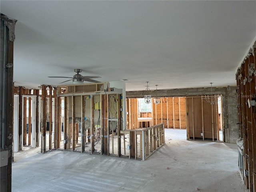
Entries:
[[[238,125],[240,131],[239,168],[244,185],[256,191],[256,42],[236,73]],[[241,144],[239,144],[241,143]]]

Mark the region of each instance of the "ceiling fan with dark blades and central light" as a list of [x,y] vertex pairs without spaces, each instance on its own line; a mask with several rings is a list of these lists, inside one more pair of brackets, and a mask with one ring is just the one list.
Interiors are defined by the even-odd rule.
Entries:
[[68,81],[73,80],[73,84],[81,84],[84,81],[88,81],[88,82],[94,82],[94,83],[100,83],[100,81],[97,80],[93,80],[93,78],[101,78],[100,76],[82,76],[79,73],[82,72],[82,69],[74,69],[74,72],[76,72],[77,74],[75,74],[73,77],[57,77],[57,76],[51,76],[50,78],[71,78],[70,80],[66,80],[60,83],[65,83]]

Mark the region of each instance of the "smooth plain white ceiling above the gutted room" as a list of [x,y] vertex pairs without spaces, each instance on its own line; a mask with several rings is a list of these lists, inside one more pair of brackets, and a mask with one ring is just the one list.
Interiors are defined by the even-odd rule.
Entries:
[[74,68],[126,90],[235,85],[256,1],[0,1],[18,20],[14,81],[58,85]]

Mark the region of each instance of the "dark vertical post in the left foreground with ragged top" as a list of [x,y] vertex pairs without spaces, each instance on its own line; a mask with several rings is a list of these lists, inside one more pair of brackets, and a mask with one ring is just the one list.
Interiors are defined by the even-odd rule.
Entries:
[[12,140],[13,140],[13,48],[14,28],[17,20],[10,20],[1,14],[1,56],[0,56],[0,149],[6,154],[1,159],[0,191],[12,190]]

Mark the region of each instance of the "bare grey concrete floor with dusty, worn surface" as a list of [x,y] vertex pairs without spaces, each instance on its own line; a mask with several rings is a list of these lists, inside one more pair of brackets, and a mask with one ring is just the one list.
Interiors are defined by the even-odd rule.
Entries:
[[[186,140],[166,129],[146,161],[38,148],[14,154],[13,192],[243,192],[236,144]],[[34,151],[34,152],[32,152]]]

